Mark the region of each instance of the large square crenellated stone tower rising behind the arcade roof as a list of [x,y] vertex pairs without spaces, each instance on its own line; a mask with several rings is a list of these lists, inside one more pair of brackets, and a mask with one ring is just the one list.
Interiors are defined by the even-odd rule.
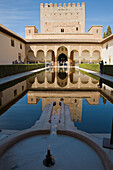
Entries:
[[40,4],[41,33],[84,33],[85,3]]

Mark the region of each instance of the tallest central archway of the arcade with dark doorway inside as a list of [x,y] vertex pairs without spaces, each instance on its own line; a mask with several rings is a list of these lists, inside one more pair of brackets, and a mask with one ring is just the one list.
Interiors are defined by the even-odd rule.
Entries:
[[57,62],[59,66],[67,66],[68,61],[68,50],[66,47],[59,47],[57,50]]

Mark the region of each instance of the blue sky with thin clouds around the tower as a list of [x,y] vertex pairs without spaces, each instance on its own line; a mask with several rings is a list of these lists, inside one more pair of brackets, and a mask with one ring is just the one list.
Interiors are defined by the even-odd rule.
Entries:
[[25,37],[25,25],[35,25],[40,32],[40,3],[86,4],[85,32],[92,25],[108,25],[113,31],[113,0],[0,0],[0,24]]

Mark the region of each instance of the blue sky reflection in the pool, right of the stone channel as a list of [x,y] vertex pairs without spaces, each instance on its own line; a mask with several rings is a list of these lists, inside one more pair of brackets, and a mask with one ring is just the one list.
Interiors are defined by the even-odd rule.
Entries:
[[86,99],[83,99],[82,120],[75,124],[77,129],[89,133],[110,133],[113,118],[113,105],[99,98],[99,105],[89,105]]

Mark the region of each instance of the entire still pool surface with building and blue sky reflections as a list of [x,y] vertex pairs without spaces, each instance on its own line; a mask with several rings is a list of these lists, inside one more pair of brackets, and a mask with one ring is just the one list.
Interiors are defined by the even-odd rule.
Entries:
[[[75,69],[48,69],[0,92],[0,129],[23,130],[39,120],[52,101],[69,105],[71,120],[88,133],[110,133],[113,89]],[[60,107],[59,105],[57,105]]]

